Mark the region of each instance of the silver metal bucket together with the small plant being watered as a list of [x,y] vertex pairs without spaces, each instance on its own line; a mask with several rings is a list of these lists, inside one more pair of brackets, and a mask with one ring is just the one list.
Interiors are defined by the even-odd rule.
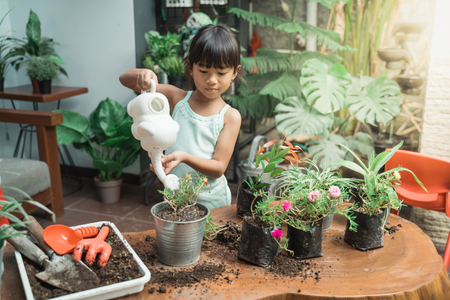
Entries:
[[199,193],[208,185],[200,173],[180,178],[176,191],[159,191],[164,201],[150,210],[156,226],[158,258],[171,266],[188,266],[200,259],[203,234],[209,209],[197,203]]

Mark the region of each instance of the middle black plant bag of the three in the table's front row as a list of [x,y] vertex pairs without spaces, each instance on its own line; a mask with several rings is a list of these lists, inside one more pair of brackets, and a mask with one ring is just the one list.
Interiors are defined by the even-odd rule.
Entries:
[[296,259],[323,256],[322,251],[323,219],[309,227],[310,231],[303,231],[288,226],[288,249],[294,251]]

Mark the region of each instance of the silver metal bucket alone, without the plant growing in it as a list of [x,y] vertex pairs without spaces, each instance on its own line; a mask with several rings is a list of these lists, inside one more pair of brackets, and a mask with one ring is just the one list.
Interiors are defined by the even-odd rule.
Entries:
[[189,266],[200,259],[203,233],[209,209],[197,203],[206,212],[201,219],[188,222],[166,221],[156,216],[161,210],[170,207],[166,202],[155,204],[150,210],[156,227],[158,258],[161,262],[175,267]]

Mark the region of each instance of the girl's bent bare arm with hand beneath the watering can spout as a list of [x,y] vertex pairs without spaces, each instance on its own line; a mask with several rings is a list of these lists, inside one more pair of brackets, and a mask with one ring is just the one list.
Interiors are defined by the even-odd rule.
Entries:
[[185,163],[202,174],[219,178],[228,167],[240,128],[241,114],[236,109],[229,108],[225,113],[223,129],[220,132],[216,151],[211,159],[198,158],[184,151],[175,151],[163,157],[164,171],[168,174],[179,163]]

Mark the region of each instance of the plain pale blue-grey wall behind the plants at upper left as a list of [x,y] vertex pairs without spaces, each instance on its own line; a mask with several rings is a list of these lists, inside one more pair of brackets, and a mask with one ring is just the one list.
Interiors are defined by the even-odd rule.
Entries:
[[[41,21],[42,35],[59,43],[55,49],[69,74],[69,78],[59,76],[53,84],[89,89],[88,94],[62,100],[61,109],[88,117],[106,97],[124,106],[134,98],[133,92],[118,80],[122,72],[136,65],[133,1],[21,0],[20,5],[18,1],[0,1],[0,11],[6,12],[11,8],[0,32],[3,34],[13,29],[15,37],[25,37],[32,9]],[[10,70],[5,87],[24,84],[29,84],[26,70]],[[20,109],[32,109],[31,103],[15,103]],[[12,108],[9,100],[0,100],[0,107]],[[39,109],[56,109],[56,102],[41,104]],[[0,123],[0,156],[13,155],[18,129],[18,125]],[[34,148],[37,149],[36,146]],[[72,147],[69,150],[76,166],[92,168],[92,159],[86,153]],[[124,172],[138,174],[138,162]]]

